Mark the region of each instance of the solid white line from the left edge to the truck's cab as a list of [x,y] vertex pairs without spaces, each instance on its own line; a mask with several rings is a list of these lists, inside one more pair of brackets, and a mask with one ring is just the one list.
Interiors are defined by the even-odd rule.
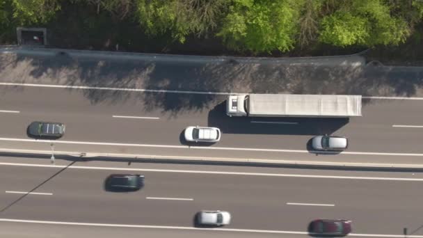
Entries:
[[0,82],[0,86],[27,86],[40,88],[68,88],[68,89],[90,89],[90,90],[115,90],[115,91],[131,91],[143,93],[186,93],[186,94],[203,94],[203,95],[239,95],[241,93],[220,93],[220,92],[199,92],[185,90],[162,90],[162,89],[143,89],[143,88],[109,88],[109,87],[92,87],[92,86],[67,86],[58,84],[19,84]]

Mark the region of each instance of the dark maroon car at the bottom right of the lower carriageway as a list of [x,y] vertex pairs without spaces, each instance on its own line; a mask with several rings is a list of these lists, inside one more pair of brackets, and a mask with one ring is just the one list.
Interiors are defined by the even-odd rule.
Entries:
[[349,220],[318,219],[310,223],[310,233],[317,235],[344,236],[351,232]]

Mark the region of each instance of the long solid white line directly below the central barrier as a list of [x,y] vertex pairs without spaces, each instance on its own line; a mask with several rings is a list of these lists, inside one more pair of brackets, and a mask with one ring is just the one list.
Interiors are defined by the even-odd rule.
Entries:
[[245,173],[245,172],[226,172],[226,171],[206,171],[206,170],[169,170],[154,168],[113,168],[113,167],[95,167],[95,166],[59,166],[49,164],[19,164],[19,163],[0,163],[0,166],[26,166],[40,168],[77,168],[92,170],[124,170],[124,171],[143,171],[157,173],[198,173],[212,175],[246,175],[246,176],[266,176],[266,177],[305,177],[305,178],[329,178],[341,180],[389,180],[389,181],[413,181],[423,182],[423,178],[406,178],[406,177],[355,177],[355,176],[335,176],[335,175],[296,175],[282,173]]

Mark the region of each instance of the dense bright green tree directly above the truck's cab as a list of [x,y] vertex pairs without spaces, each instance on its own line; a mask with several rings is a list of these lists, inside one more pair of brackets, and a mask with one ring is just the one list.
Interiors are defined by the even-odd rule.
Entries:
[[225,45],[254,54],[294,48],[304,1],[234,0],[218,36]]

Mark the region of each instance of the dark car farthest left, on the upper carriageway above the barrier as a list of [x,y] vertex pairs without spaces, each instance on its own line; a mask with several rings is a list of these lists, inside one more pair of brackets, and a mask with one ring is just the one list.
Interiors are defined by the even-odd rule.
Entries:
[[27,130],[30,136],[61,138],[65,134],[65,124],[59,122],[32,122]]

